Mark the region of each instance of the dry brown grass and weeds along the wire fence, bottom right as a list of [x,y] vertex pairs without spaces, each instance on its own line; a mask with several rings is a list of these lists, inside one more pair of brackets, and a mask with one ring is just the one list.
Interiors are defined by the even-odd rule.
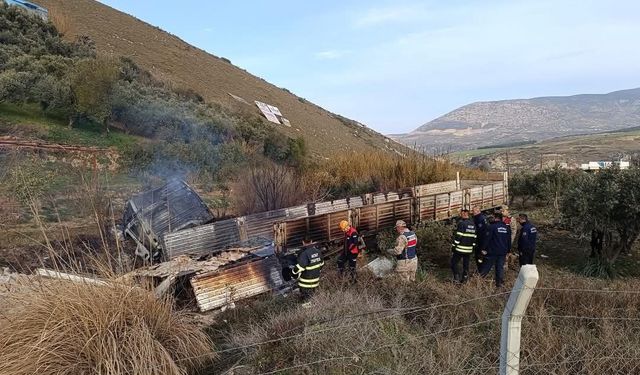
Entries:
[[[640,286],[635,280],[605,284],[547,268],[541,271],[545,288]],[[313,308],[267,305],[268,313],[250,319],[247,316],[260,314],[261,305],[255,304],[225,316],[229,327],[220,342],[223,346],[293,335],[242,349],[234,373],[284,368],[289,374],[497,372],[499,318],[508,294],[494,294],[509,290],[496,291],[490,280],[472,279],[457,286],[435,276],[413,285],[362,278],[356,286],[345,286],[333,280],[332,271],[329,274],[312,300]],[[491,297],[477,299],[481,296]],[[407,312],[416,306],[437,307]],[[640,354],[640,338],[633,334],[640,328],[639,307],[637,294],[536,291],[528,312],[532,316],[523,324],[522,373],[637,373],[632,358]],[[394,315],[385,318],[390,313]],[[550,317],[556,315],[603,319]],[[606,319],[612,316],[622,320]]]

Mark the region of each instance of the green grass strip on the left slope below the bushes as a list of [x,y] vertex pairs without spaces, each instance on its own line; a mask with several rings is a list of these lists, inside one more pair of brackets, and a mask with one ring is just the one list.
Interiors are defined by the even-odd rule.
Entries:
[[78,146],[114,147],[123,150],[144,141],[118,130],[109,133],[95,122],[83,121],[69,128],[58,116],[44,115],[37,105],[0,103],[0,135],[20,135],[52,143]]

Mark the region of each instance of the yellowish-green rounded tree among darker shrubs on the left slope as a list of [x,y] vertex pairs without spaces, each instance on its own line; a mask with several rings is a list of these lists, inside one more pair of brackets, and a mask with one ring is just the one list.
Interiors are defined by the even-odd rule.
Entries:
[[[107,132],[111,116],[110,95],[117,79],[118,69],[111,61],[84,59],[76,63],[71,81],[76,113],[102,123]],[[73,125],[73,121],[69,125]]]

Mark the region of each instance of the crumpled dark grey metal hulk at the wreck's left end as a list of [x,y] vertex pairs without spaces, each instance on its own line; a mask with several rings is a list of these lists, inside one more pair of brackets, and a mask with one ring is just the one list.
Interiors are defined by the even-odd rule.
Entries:
[[127,201],[122,231],[135,241],[136,255],[160,260],[165,235],[211,221],[213,215],[200,196],[186,182],[173,179]]

